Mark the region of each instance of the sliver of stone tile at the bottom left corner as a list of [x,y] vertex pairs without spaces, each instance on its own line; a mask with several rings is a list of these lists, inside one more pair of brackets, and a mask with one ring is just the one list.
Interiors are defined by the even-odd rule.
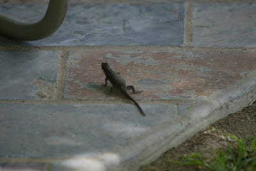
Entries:
[[47,171],[45,163],[0,163],[1,171]]

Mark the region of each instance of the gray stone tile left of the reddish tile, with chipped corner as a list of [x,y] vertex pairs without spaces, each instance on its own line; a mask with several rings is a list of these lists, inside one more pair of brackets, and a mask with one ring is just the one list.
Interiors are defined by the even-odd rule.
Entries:
[[51,99],[61,52],[0,51],[0,99]]

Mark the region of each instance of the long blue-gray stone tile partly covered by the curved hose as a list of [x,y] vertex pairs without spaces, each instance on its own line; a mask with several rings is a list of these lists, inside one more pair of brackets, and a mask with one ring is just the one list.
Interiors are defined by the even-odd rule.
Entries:
[[[42,17],[46,4],[2,5],[0,10],[1,13],[35,22]],[[48,38],[14,41],[1,36],[0,45],[180,46],[183,42],[183,21],[184,3],[70,4],[62,26]]]

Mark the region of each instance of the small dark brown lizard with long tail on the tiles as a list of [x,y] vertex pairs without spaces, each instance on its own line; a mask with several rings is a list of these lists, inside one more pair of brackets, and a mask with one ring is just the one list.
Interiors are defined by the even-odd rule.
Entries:
[[108,85],[109,80],[113,88],[118,89],[120,93],[122,93],[127,99],[131,100],[139,108],[141,115],[146,116],[140,105],[137,103],[137,101],[134,100],[134,98],[132,98],[132,96],[129,95],[127,90],[132,89],[132,93],[134,94],[141,93],[142,91],[135,91],[133,85],[126,86],[124,78],[121,77],[119,73],[116,73],[115,71],[111,70],[108,63],[101,63],[101,68],[103,73],[106,75],[104,86]]

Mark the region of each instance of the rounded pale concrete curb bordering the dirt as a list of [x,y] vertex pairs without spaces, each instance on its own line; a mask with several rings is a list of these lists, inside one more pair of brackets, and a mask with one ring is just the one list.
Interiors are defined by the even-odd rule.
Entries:
[[122,161],[119,166],[112,166],[109,170],[138,170],[141,165],[156,160],[171,147],[181,144],[228,114],[241,110],[255,99],[256,77],[253,75],[218,91],[209,100],[195,101],[185,114],[172,123],[161,124],[120,148],[116,153],[121,154]]

